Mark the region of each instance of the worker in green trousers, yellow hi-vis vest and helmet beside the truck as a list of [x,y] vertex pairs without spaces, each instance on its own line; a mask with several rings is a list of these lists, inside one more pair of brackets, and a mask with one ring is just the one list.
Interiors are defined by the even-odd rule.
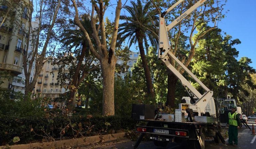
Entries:
[[[238,144],[238,129],[240,128],[239,114],[236,113],[236,106],[231,107],[231,112],[228,113],[228,144],[237,146]],[[234,143],[233,143],[234,142]]]

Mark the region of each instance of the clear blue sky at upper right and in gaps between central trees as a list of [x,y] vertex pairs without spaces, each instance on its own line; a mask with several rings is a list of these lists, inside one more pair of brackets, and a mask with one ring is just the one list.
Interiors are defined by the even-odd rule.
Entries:
[[[125,1],[122,1],[123,4]],[[114,1],[113,1],[114,3]],[[127,1],[126,5],[130,5],[130,0]],[[115,12],[113,6],[109,10],[113,11],[107,12],[106,16],[109,17],[110,20],[115,19]],[[228,11],[226,14],[226,18],[221,20],[218,23],[218,28],[220,28],[223,32],[226,32],[228,35],[232,36],[233,39],[240,39],[241,44],[235,45],[234,47],[239,51],[239,57],[248,57],[252,59],[250,66],[256,68],[256,0],[227,0],[226,5],[224,6],[224,10]],[[124,10],[121,11],[121,15],[124,15]],[[128,15],[128,14],[127,14]],[[121,22],[120,22],[121,23]],[[131,47],[131,50],[136,50],[136,45]]]

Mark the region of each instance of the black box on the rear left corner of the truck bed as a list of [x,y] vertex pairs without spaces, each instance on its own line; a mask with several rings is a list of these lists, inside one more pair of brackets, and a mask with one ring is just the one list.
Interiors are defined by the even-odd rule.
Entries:
[[155,106],[145,104],[132,104],[133,119],[155,119]]

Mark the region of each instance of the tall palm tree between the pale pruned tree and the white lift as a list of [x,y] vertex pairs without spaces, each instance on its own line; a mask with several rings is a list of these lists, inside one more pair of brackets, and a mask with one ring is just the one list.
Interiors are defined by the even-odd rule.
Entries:
[[126,20],[126,22],[119,25],[117,43],[120,45],[128,38],[129,47],[131,47],[132,43],[138,42],[148,96],[154,98],[152,79],[144,51],[144,45],[146,51],[148,51],[148,41],[153,46],[157,45],[158,16],[156,16],[154,10],[150,10],[150,4],[151,1],[143,6],[141,0],[137,0],[137,3],[131,1],[132,6],[124,6],[124,9],[129,12],[130,16],[120,16],[120,20]]

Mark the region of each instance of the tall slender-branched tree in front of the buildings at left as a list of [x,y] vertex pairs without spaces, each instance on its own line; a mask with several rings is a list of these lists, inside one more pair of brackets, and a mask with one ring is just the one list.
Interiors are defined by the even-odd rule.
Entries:
[[[51,43],[52,40],[56,37],[56,33],[58,32],[57,28],[54,29],[55,25],[60,25],[62,23],[61,20],[64,18],[60,17],[60,14],[58,14],[59,10],[63,11],[63,7],[61,7],[61,2],[61,0],[23,0],[23,12],[19,12],[18,17],[20,18],[20,22],[17,21],[17,24],[19,25],[20,29],[26,33],[27,37],[25,41],[24,38],[22,38],[22,47],[24,46],[24,43],[26,43],[27,45],[26,49],[23,52],[23,68],[26,77],[25,96],[28,96],[29,92],[32,92],[37,82],[39,74],[45,63],[47,48],[50,45],[52,49],[55,49],[57,45],[55,44],[54,46],[54,44]],[[35,6],[36,9],[34,9],[33,6]],[[27,11],[24,11],[25,9]],[[25,29],[23,27],[22,18],[24,17],[29,20],[28,29]],[[35,17],[35,20],[38,21],[39,26],[37,28],[33,28],[33,17]],[[23,34],[23,37],[24,36],[25,35]],[[33,49],[30,52],[29,47],[32,47]],[[35,74],[33,80],[31,81],[30,76],[33,63],[35,64]]]

